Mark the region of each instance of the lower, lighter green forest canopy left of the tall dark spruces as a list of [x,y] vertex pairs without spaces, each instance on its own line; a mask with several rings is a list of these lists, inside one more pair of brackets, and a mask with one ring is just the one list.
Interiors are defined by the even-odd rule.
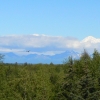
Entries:
[[48,64],[0,64],[0,100],[52,100],[63,80],[61,69]]

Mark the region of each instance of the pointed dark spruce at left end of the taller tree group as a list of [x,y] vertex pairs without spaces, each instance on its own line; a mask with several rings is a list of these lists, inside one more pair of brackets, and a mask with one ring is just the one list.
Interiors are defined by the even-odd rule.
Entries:
[[61,91],[56,97],[57,100],[83,100],[77,91],[76,72],[73,63],[72,57],[69,57],[66,64],[66,67],[68,67],[66,77],[61,85]]

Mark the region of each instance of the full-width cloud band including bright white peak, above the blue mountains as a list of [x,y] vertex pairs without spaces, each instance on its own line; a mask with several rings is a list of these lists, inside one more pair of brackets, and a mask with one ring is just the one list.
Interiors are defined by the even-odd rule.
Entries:
[[[88,36],[79,41],[73,37],[47,36],[39,34],[0,36],[0,52],[13,52],[19,55],[55,55],[73,49],[82,52],[100,50],[100,39]],[[26,52],[30,50],[30,52]]]

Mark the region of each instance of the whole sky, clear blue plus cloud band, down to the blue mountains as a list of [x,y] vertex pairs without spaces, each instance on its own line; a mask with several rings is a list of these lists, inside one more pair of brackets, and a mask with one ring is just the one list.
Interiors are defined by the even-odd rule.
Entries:
[[100,0],[0,0],[0,53],[84,49],[100,51]]

